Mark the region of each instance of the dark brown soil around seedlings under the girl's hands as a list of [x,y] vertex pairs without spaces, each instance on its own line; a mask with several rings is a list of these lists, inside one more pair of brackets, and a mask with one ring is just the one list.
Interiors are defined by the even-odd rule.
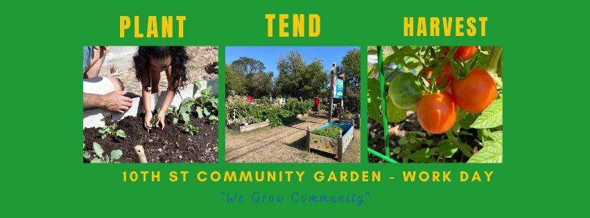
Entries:
[[114,138],[107,136],[101,138],[99,128],[84,129],[84,152],[90,152],[89,159],[83,159],[89,163],[96,154],[92,149],[92,143],[96,142],[103,147],[105,154],[115,149],[121,149],[123,156],[116,162],[139,163],[139,158],[133,147],[143,145],[148,163],[216,163],[218,162],[218,137],[217,123],[211,123],[208,118],[196,118],[191,116],[191,124],[202,127],[194,136],[180,129],[184,123],[179,121],[172,123],[171,117],[166,117],[164,130],[155,128],[151,132],[144,128],[144,115],[139,117],[128,116],[117,123],[119,129],[123,129],[127,138]]

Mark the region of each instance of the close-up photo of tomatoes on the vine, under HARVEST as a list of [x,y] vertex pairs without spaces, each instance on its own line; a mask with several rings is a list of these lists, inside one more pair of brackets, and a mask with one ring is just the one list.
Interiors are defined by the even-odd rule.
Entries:
[[502,163],[502,47],[367,54],[370,163]]

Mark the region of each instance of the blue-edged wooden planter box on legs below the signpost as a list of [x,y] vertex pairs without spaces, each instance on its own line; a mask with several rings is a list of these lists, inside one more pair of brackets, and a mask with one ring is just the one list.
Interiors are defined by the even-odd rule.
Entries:
[[342,136],[338,138],[328,138],[324,136],[318,136],[315,134],[311,134],[311,128],[307,128],[307,151],[311,151],[311,149],[316,149],[322,152],[327,152],[329,154],[334,154],[338,162],[342,162],[342,155],[346,152],[346,149],[352,138],[354,137],[353,125],[335,123],[335,122],[328,122],[318,129],[322,129],[329,126],[338,126],[342,128]]

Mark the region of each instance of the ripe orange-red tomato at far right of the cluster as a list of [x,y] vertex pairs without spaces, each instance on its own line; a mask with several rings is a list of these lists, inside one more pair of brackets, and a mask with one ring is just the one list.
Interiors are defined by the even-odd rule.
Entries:
[[481,113],[498,96],[492,75],[477,68],[462,80],[455,80],[451,87],[455,103],[469,113]]

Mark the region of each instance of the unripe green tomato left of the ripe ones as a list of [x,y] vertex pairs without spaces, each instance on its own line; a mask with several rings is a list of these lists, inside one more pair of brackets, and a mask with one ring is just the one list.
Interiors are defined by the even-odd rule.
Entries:
[[424,90],[412,73],[401,73],[389,85],[389,98],[401,109],[413,109],[424,95]]

